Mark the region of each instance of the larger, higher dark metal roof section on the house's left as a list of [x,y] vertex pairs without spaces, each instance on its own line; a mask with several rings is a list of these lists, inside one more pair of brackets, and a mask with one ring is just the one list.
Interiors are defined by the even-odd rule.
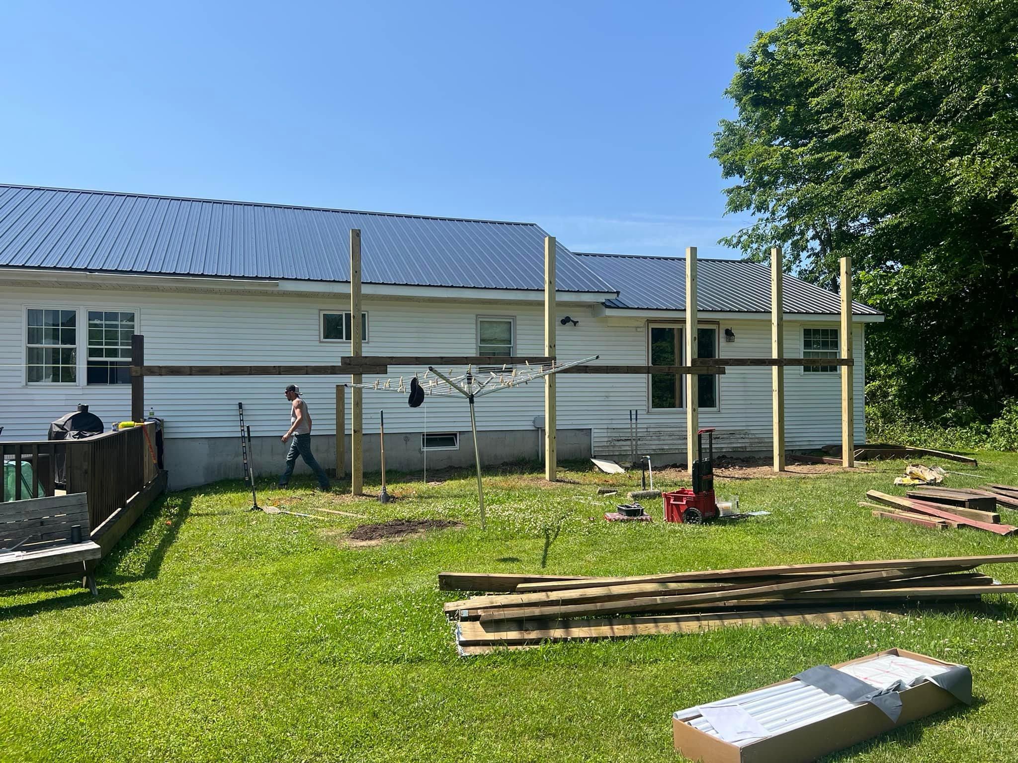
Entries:
[[[0,184],[0,267],[543,290],[531,223]],[[616,293],[564,246],[559,291]]]

